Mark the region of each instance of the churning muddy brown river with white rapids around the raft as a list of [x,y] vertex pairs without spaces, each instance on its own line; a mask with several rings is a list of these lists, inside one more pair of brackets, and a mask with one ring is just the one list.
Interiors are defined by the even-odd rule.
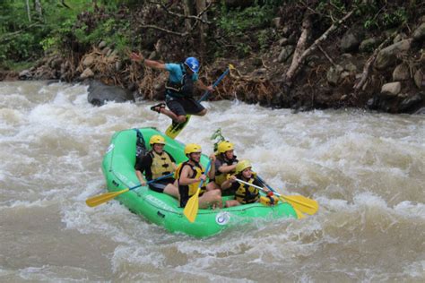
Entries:
[[0,281],[425,281],[425,116],[204,103],[178,140],[211,153],[221,128],[269,184],[320,208],[194,239],[116,201],[84,202],[105,192],[113,133],[165,131],[152,105],[92,107],[86,86],[0,82]]

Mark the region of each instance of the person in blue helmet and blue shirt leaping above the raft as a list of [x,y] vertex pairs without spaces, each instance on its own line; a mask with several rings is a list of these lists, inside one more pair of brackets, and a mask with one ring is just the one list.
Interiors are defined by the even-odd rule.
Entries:
[[[160,103],[151,107],[152,111],[169,116],[173,124],[186,122],[186,115],[204,116],[207,110],[193,98],[194,89],[213,91],[212,85],[205,85],[198,79],[200,68],[199,61],[195,57],[187,57],[180,64],[160,63],[147,60],[141,54],[132,53],[131,59],[141,62],[148,67],[169,72],[169,80],[165,86],[166,104]],[[169,107],[167,109],[165,106]]]

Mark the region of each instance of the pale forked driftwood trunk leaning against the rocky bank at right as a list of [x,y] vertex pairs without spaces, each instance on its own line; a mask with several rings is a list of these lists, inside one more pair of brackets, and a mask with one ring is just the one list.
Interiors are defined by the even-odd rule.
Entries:
[[308,34],[311,31],[311,21],[308,19],[308,17],[304,19],[302,24],[303,30],[301,36],[299,37],[297,47],[295,48],[295,53],[292,58],[291,66],[284,74],[284,81],[287,85],[291,86],[295,76],[299,73],[299,68],[302,64],[304,64],[306,57],[309,56],[313,51],[315,51],[318,45],[325,41],[325,39],[327,39],[328,36],[343,23],[343,21],[346,21],[348,18],[350,18],[352,13],[354,13],[354,10],[350,13],[345,14],[345,16],[343,16],[343,19],[334,21],[334,23],[329,27],[329,29],[327,29],[324,34],[322,34],[318,39],[316,39],[315,42],[307,49],[306,42],[308,39]]

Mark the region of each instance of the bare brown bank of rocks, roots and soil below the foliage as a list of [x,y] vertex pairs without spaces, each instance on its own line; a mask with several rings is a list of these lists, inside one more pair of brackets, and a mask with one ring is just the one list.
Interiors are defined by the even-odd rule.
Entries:
[[[132,25],[127,33],[133,35],[134,40],[139,32],[149,30],[146,21],[152,21],[150,7],[143,6],[128,16]],[[156,7],[155,12],[170,18],[169,11],[173,8],[180,11],[176,5],[169,10]],[[94,79],[126,90],[137,90],[137,96],[142,99],[163,99],[166,74],[131,62],[128,52],[133,49],[163,62],[180,62],[186,56],[198,56],[203,64],[200,77],[209,83],[220,76],[227,64],[233,64],[236,70],[222,81],[210,97],[212,100],[237,98],[265,107],[301,111],[360,107],[388,113],[425,112],[425,16],[420,17],[423,4],[416,7],[416,13],[409,4],[379,7],[375,24],[386,30],[370,28],[368,24],[373,22],[369,22],[369,14],[356,15],[354,7],[339,13],[338,20],[318,14],[323,13],[319,6],[313,8],[316,13],[308,13],[306,7],[287,4],[277,9],[272,21],[260,27],[255,26],[256,18],[252,16],[255,29],[233,35],[220,47],[217,47],[217,40],[224,36],[230,38],[230,32],[211,30],[211,26],[217,28],[218,25],[212,22],[207,37],[215,40],[212,47],[205,44],[207,39],[199,41],[196,35],[185,39],[183,35],[178,38],[165,31],[150,32],[138,47],[132,42],[131,47],[123,49],[105,39],[82,52],[76,47],[70,48],[67,54],[53,52],[34,67],[21,73],[3,74],[3,78]],[[395,25],[378,21],[384,10]],[[106,11],[82,14],[80,25],[106,14]],[[208,19],[214,14],[220,13],[212,10]],[[108,14],[118,15],[123,13]],[[135,21],[134,15],[143,20]],[[172,23],[158,21],[157,27],[173,30]],[[191,47],[187,46],[187,41]],[[220,56],[212,56],[210,51]]]

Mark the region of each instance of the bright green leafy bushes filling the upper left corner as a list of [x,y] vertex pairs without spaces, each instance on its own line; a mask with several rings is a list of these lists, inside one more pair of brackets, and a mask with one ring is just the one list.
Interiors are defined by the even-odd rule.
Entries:
[[[0,2],[0,65],[10,67],[11,62],[31,61],[43,56],[44,51],[56,47],[62,40],[64,22],[74,22],[76,15],[90,7],[89,0],[68,1],[71,9],[58,1],[40,0],[42,17],[29,2],[30,17],[25,1]],[[8,60],[7,62],[5,60]]]

